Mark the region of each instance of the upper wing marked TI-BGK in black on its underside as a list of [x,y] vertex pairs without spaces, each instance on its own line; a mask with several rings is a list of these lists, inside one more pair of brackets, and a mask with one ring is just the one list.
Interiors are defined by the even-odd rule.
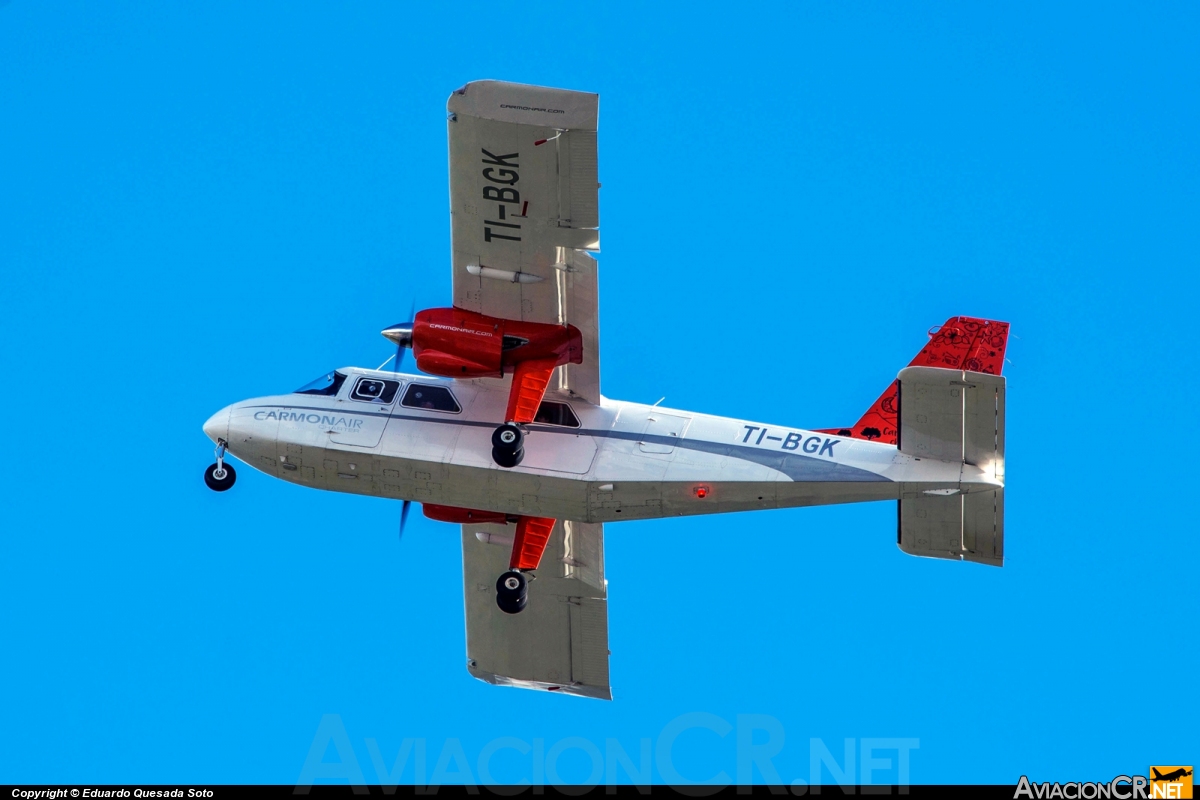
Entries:
[[446,109],[454,305],[578,327],[583,363],[547,391],[599,403],[599,95],[476,80]]

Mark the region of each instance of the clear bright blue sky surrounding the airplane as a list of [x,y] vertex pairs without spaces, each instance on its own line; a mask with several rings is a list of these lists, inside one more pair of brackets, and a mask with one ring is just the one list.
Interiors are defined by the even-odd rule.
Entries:
[[[1050,5],[0,2],[0,781],[1195,763],[1200,12]],[[212,411],[449,301],[476,78],[600,92],[610,397],[847,425],[1010,321],[1006,567],[887,503],[610,525],[599,703],[467,674],[457,528],[209,492]]]

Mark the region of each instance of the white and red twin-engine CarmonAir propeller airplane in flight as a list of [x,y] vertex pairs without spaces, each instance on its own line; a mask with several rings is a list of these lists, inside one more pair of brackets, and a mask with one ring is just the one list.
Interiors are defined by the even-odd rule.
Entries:
[[[497,80],[448,102],[451,303],[378,369],[223,408],[228,461],[461,525],[467,668],[612,699],[604,525],[896,500],[913,555],[1002,566],[1008,324],[952,317],[853,426],[805,429],[600,392],[595,94]],[[412,351],[421,374],[402,372]],[[390,369],[383,366],[391,365]]]

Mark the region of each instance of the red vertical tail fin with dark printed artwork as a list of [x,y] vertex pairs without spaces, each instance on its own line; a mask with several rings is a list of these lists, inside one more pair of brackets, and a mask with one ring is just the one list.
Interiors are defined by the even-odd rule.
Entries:
[[[929,331],[929,343],[908,362],[908,366],[966,369],[998,375],[1004,366],[1006,347],[1008,347],[1008,323],[976,317],[950,317]],[[899,393],[900,381],[894,380],[853,427],[826,428],[818,433],[898,444]]]

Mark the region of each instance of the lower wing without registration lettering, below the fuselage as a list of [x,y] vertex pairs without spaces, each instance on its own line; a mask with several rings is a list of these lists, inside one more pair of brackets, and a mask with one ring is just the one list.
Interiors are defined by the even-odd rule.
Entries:
[[467,669],[488,684],[611,700],[604,525],[554,524],[520,614],[496,606],[511,542],[512,525],[462,527]]

